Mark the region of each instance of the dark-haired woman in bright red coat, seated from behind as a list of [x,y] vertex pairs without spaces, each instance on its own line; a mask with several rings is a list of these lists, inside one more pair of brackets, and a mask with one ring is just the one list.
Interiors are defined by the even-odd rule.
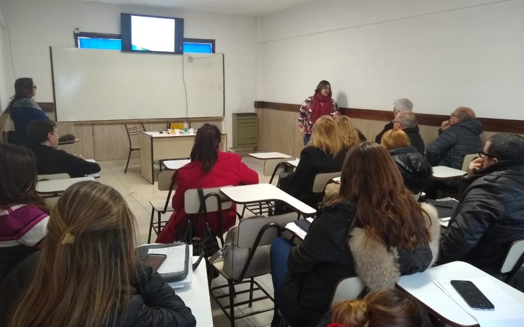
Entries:
[[[187,215],[184,211],[184,193],[188,189],[211,188],[238,184],[257,184],[258,174],[242,162],[236,153],[222,152],[220,148],[221,133],[218,127],[204,124],[196,132],[195,143],[191,150],[191,162],[173,174],[177,189],[173,196],[173,209],[169,221],[160,231],[157,243],[171,243],[183,233]],[[201,236],[205,219],[196,222],[193,236]],[[236,222],[236,206],[222,210],[222,227],[220,231],[217,212],[209,213],[208,220],[215,235],[222,235]]]

